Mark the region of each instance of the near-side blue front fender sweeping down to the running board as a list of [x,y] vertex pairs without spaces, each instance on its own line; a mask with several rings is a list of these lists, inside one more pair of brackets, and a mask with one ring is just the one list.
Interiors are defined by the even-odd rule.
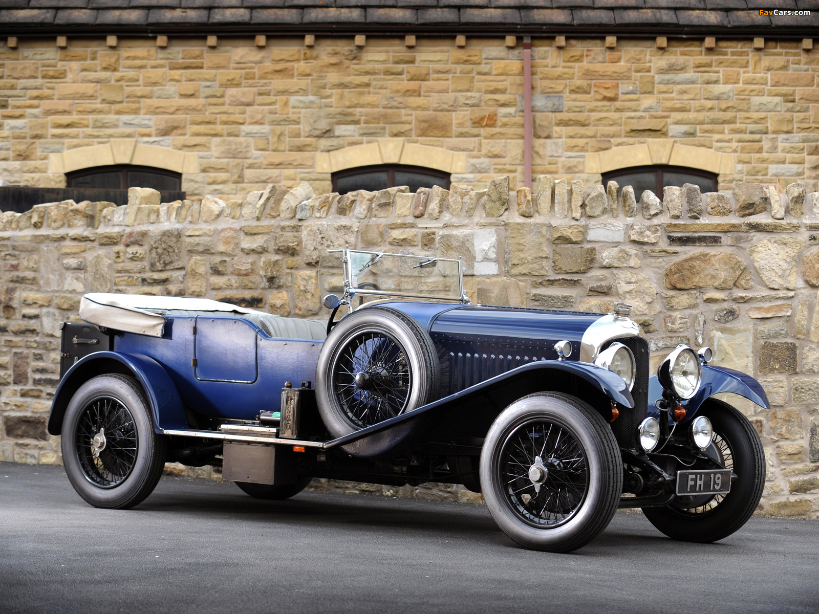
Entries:
[[580,378],[605,395],[611,402],[630,409],[634,407],[634,400],[631,392],[628,391],[626,382],[616,373],[590,363],[541,360],[501,373],[411,412],[373,424],[372,427],[339,437],[327,447],[332,448],[338,445],[347,454],[359,457],[385,454],[415,436],[419,431],[423,431],[421,427],[428,426],[432,422],[446,421],[447,418],[455,421],[464,419],[457,416],[468,411],[476,397],[491,399],[491,404],[495,405],[496,409],[494,415],[497,415],[507,404],[530,392],[551,390],[550,378],[567,376]]

